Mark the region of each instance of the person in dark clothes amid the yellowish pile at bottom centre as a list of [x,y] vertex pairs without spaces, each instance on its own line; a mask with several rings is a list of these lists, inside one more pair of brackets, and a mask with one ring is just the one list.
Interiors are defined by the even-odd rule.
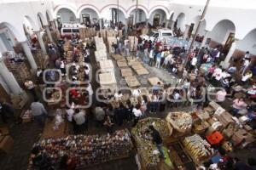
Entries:
[[160,151],[160,157],[166,159],[164,151],[162,150],[163,140],[160,137],[160,133],[154,128],[153,125],[149,125],[148,129],[153,139],[153,143],[156,145],[156,148]]

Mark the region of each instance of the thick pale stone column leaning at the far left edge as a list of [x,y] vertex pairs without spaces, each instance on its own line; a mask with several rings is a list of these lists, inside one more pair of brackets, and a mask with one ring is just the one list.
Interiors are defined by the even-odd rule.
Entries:
[[[1,56],[0,56],[1,57]],[[3,77],[3,81],[8,85],[8,88],[15,96],[20,96],[23,93],[19,83],[16,81],[14,75],[8,70],[3,63],[3,58],[0,58],[0,74]]]

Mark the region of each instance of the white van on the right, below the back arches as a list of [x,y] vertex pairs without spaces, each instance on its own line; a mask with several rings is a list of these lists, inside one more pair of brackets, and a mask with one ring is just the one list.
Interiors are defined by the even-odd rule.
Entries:
[[164,38],[173,37],[173,31],[170,29],[159,29],[157,31],[151,31],[148,35],[142,35],[141,38],[145,40],[154,41],[155,38],[162,40]]

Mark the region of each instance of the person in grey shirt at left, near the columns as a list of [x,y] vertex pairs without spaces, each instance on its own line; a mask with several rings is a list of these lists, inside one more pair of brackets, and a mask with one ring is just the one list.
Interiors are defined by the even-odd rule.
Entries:
[[40,103],[38,99],[35,99],[30,105],[30,108],[35,121],[38,122],[41,127],[44,127],[44,117],[47,116],[44,105]]

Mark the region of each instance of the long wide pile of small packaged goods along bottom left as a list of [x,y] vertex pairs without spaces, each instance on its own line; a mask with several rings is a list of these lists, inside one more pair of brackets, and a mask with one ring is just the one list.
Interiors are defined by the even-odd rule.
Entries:
[[[76,158],[77,168],[84,168],[129,156],[132,143],[128,130],[119,130],[112,134],[43,139],[33,147],[49,157],[53,167],[57,167],[61,157],[67,155]],[[33,169],[32,161],[28,169]]]

